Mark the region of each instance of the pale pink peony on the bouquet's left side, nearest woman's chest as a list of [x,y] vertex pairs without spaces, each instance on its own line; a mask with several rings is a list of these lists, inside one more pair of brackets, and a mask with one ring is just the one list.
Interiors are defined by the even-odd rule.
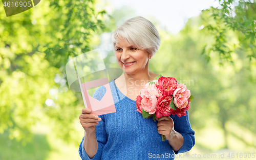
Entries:
[[143,89],[141,90],[140,96],[142,97],[141,106],[144,109],[144,111],[154,114],[156,112],[157,107],[157,97],[155,95],[156,90],[153,85],[149,85],[147,83]]

